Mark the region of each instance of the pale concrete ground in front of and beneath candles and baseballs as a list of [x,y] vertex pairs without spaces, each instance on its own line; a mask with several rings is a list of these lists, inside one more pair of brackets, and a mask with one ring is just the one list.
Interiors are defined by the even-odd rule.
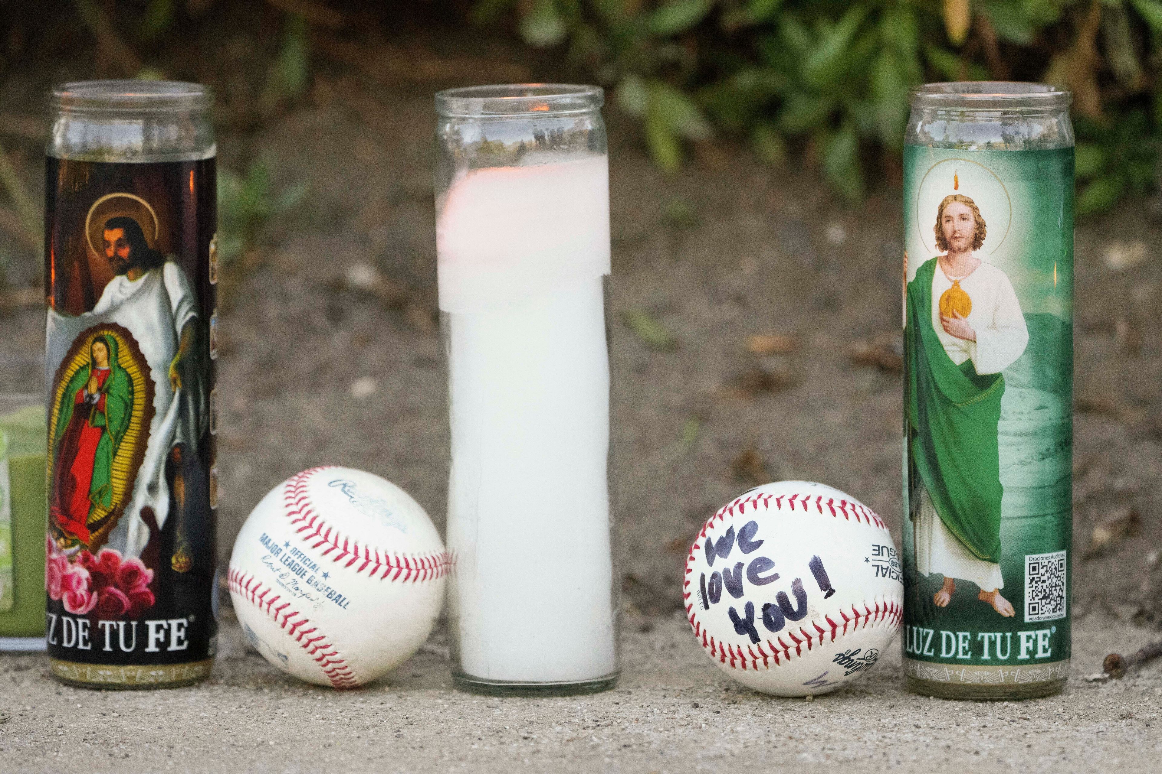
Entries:
[[494,699],[452,688],[437,632],[410,661],[345,693],[299,682],[224,616],[206,682],[94,692],[43,657],[0,658],[0,771],[62,772],[1149,772],[1162,755],[1162,663],[1091,682],[1110,648],[1155,632],[1075,624],[1063,695],[953,702],[904,692],[892,645],[861,681],[812,702],[737,686],[680,614],[625,621],[615,689]]

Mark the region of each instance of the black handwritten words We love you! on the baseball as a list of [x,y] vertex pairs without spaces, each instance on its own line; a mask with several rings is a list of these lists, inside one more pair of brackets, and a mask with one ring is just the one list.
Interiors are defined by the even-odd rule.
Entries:
[[[723,599],[724,588],[733,599],[741,599],[745,591],[744,577],[746,578],[746,583],[752,586],[766,586],[780,579],[780,573],[774,572],[774,560],[762,554],[755,554],[763,543],[762,540],[755,540],[758,531],[759,522],[748,521],[743,525],[737,535],[734,534],[734,528],[731,527],[717,542],[712,536],[706,537],[704,547],[706,564],[711,567],[715,566],[716,559],[729,560],[736,548],[738,548],[739,554],[746,557],[746,560],[736,562],[733,567],[727,564],[720,571],[715,570],[710,573],[709,578],[706,578],[705,572],[701,573],[698,578],[698,602],[702,609],[709,610],[711,606],[717,605]],[[752,554],[754,554],[753,557],[751,556]],[[827,570],[823,566],[823,559],[818,556],[812,556],[808,562],[808,570],[811,571],[816,585],[823,593],[823,599],[827,599],[835,593],[835,588],[831,585],[831,578],[827,577]],[[780,591],[774,595],[773,602],[763,603],[759,613],[759,619],[767,631],[782,631],[788,621],[801,621],[806,617],[808,593],[803,586],[803,578],[792,579],[790,591],[790,595],[786,591]],[[794,603],[791,602],[791,595],[795,596]],[[736,634],[749,637],[752,643],[761,642],[762,638],[759,636],[759,630],[755,625],[754,602],[747,601],[743,607],[741,614],[734,609],[734,606],[730,606],[727,614],[730,615],[731,623],[734,624]]]

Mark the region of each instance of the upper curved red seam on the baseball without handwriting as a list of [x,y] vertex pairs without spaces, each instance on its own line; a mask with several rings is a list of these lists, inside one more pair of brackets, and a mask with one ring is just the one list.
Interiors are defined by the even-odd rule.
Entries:
[[340,537],[337,529],[315,513],[307,492],[307,482],[314,473],[333,466],[309,468],[286,482],[282,501],[290,523],[299,526],[295,533],[303,542],[315,549],[322,548],[322,555],[331,555],[332,562],[343,563],[345,567],[358,564],[359,566],[354,567],[357,573],[367,572],[373,578],[379,576],[380,580],[392,576],[393,581],[418,583],[436,580],[447,574],[452,565],[452,558],[447,552],[408,557],[381,551],[378,548],[373,550],[367,545],[360,547],[358,541]]

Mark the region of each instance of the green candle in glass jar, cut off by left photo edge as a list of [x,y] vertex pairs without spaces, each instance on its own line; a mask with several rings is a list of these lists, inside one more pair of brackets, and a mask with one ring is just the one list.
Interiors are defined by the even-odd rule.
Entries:
[[0,357],[0,651],[44,650],[43,372]]

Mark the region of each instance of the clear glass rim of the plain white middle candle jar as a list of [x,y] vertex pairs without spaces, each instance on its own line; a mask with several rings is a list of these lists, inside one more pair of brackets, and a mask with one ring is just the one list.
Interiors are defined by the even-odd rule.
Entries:
[[436,113],[449,118],[559,116],[601,109],[605,92],[582,84],[497,84],[436,92]]

